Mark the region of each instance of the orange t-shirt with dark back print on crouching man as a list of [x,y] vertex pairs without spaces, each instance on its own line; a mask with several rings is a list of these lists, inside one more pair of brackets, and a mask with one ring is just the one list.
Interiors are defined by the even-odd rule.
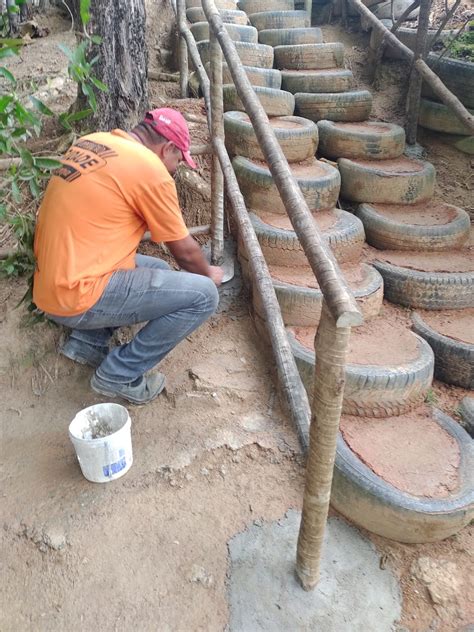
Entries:
[[161,160],[122,130],[79,139],[54,172],[35,233],[33,300],[75,316],[96,303],[115,270],[135,268],[146,230],[153,241],[189,234]]

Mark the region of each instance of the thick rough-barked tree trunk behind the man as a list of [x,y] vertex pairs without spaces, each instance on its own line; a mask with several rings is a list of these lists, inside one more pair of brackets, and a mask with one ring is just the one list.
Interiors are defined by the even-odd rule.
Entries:
[[[76,11],[79,0],[76,0]],[[91,3],[90,35],[100,35],[90,57],[99,55],[94,73],[108,87],[96,90],[97,130],[130,129],[148,106],[148,55],[145,43],[145,0],[96,0]],[[79,89],[80,92],[80,89]],[[80,109],[83,95],[78,97]]]

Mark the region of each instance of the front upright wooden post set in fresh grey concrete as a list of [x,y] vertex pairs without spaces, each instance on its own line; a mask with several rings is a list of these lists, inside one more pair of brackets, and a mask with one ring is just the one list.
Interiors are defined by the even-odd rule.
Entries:
[[350,327],[336,327],[334,317],[324,300],[315,339],[317,360],[303,514],[296,554],[296,575],[305,590],[313,589],[319,580],[350,331]]

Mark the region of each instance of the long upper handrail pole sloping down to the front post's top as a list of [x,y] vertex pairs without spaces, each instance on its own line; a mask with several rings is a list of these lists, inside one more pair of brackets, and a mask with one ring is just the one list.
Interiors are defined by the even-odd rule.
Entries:
[[253,124],[263,155],[270,168],[292,226],[318,280],[319,286],[326,297],[331,312],[334,314],[339,327],[358,325],[362,322],[362,315],[357,303],[343,280],[334,255],[324,242],[314,223],[306,200],[289,169],[285,155],[269,124],[268,116],[242,68],[234,42],[225,30],[222,18],[213,0],[203,0],[202,6],[208,19],[210,30],[214,31],[222,47],[237,92]]

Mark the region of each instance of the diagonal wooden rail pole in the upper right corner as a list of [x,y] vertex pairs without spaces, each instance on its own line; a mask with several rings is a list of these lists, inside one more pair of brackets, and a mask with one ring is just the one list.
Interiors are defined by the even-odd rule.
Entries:
[[[409,61],[413,60],[413,51],[405,46],[400,40],[382,24],[382,22],[370,11],[360,0],[347,0],[349,4],[379,31],[386,34],[387,43],[397,48]],[[431,70],[422,59],[415,61],[415,68],[423,79],[431,86],[439,99],[453,110],[456,116],[474,133],[474,116],[464,107],[461,101],[446,88],[443,82]]]

